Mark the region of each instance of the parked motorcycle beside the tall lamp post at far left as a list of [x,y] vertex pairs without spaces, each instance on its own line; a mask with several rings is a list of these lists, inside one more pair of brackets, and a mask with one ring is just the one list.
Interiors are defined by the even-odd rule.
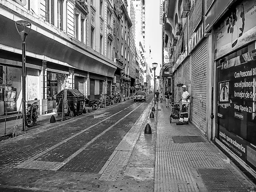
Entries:
[[27,109],[26,109],[26,126],[28,127],[32,127],[34,126],[36,119],[38,118],[38,102],[36,101],[37,98],[34,99],[34,102],[32,104],[28,104],[27,105]]

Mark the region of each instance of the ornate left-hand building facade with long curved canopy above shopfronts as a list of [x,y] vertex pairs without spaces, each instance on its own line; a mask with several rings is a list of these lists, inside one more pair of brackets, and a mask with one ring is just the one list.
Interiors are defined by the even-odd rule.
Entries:
[[31,23],[26,38],[26,100],[38,98],[41,113],[56,107],[56,94],[63,88],[76,88],[97,99],[120,89],[121,72],[129,84],[132,23],[127,6],[126,1],[114,0],[1,0],[0,113],[6,112],[6,105],[8,112],[19,110],[22,99],[17,20]]

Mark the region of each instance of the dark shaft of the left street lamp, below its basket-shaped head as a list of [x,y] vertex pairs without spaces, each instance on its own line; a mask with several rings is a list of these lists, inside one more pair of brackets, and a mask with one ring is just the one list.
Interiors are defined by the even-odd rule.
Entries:
[[22,131],[25,131],[26,125],[26,43],[22,42],[22,110],[23,110],[23,121],[22,121]]

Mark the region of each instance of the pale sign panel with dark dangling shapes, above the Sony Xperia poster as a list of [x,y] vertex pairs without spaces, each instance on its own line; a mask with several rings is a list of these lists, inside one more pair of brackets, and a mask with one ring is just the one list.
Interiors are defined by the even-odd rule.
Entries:
[[245,0],[230,11],[214,33],[215,59],[256,40],[256,1]]

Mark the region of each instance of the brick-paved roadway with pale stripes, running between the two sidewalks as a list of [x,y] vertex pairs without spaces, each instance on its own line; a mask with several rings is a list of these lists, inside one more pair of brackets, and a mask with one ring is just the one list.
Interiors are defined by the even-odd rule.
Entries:
[[[152,191],[156,141],[156,120],[149,119],[152,98],[150,94],[146,102],[127,100],[99,108],[0,142],[0,191],[6,186],[4,191],[122,190],[124,169],[134,158],[148,164],[147,175],[133,174],[142,174],[145,182],[140,186]],[[140,139],[148,121],[152,135]],[[130,158],[137,140],[142,146]],[[143,147],[145,142],[150,148]],[[128,191],[140,187],[135,180],[129,183]]]

